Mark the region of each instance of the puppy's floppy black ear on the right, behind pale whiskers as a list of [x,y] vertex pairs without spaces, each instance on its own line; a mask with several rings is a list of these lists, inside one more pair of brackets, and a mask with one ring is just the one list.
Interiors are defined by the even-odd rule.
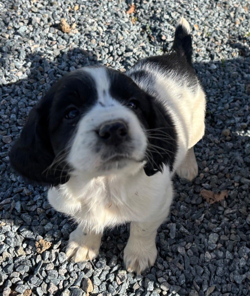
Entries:
[[163,165],[172,171],[177,153],[177,136],[174,122],[164,107],[151,98],[151,114],[148,131],[147,164],[144,171],[147,176],[163,172]]

